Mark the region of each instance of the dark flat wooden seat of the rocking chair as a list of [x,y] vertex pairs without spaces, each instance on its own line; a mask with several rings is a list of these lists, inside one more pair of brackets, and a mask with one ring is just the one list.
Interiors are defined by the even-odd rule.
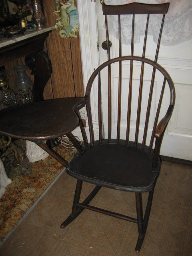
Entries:
[[152,156],[146,150],[122,143],[108,143],[77,152],[66,170],[74,178],[99,186],[130,191],[152,190],[160,169],[152,167]]

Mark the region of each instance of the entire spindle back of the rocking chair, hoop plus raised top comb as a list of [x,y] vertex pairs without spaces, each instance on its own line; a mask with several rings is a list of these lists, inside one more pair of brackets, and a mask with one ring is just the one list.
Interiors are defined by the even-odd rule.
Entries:
[[[88,123],[89,123],[89,130],[90,130],[90,142],[94,145],[95,140],[99,140],[99,143],[102,143],[102,140],[108,139],[108,142],[116,143],[133,143],[134,146],[138,146],[141,148],[146,148],[149,152],[152,152],[152,148],[154,147],[154,138],[157,139],[156,146],[155,146],[155,155],[157,155],[160,150],[160,144],[162,141],[162,137],[165,131],[165,128],[168,124],[168,121],[171,117],[172,110],[174,107],[175,101],[175,91],[174,91],[174,84],[172,79],[170,78],[169,74],[157,63],[158,59],[158,52],[160,47],[160,39],[162,35],[162,28],[164,23],[164,17],[168,10],[169,4],[139,4],[139,3],[132,3],[126,4],[121,6],[108,6],[103,4],[103,14],[105,15],[105,22],[106,22],[106,37],[107,42],[109,41],[109,32],[108,32],[108,22],[107,16],[108,15],[118,15],[118,27],[119,27],[119,57],[111,59],[110,58],[110,47],[109,44],[107,46],[108,52],[108,61],[101,64],[92,74],[90,77],[87,88],[86,88],[86,110],[88,115]],[[132,14],[132,40],[131,40],[131,54],[130,56],[122,56],[122,42],[121,42],[121,15],[124,14]],[[146,30],[144,36],[144,45],[143,45],[143,52],[142,56],[134,56],[134,18],[137,14],[147,14],[147,22],[146,22]],[[146,42],[147,42],[147,31],[148,31],[148,24],[149,24],[149,17],[150,14],[162,14],[162,23],[160,27],[160,34],[158,39],[158,44],[156,48],[156,54],[154,60],[150,60],[145,57],[146,52]],[[136,68],[135,68],[136,65]],[[117,68],[118,67],[118,68]],[[104,70],[107,69],[107,79],[105,75],[102,73]],[[118,86],[114,89],[114,76],[112,76],[112,72],[118,69],[117,74],[115,74],[116,80],[118,81]],[[134,70],[135,69],[135,70]],[[138,72],[139,69],[139,72]],[[150,78],[149,75],[145,75],[145,72],[151,69]],[[135,96],[134,102],[132,100],[133,94],[135,95],[136,86],[133,84],[133,79],[135,73],[139,73],[138,79],[138,92],[137,92],[137,104],[135,103]],[[157,74],[156,74],[157,73]],[[127,102],[126,102],[126,111],[125,108],[122,110],[122,74],[124,77],[126,76],[126,85],[124,87],[127,88]],[[158,76],[158,83],[156,83],[156,76]],[[147,98],[143,98],[144,90],[144,77],[147,78],[146,80],[150,84],[150,88],[148,90]],[[102,79],[104,78],[105,82],[103,84]],[[150,82],[149,82],[150,79]],[[103,88],[106,86],[106,80],[108,84],[108,91],[106,92]],[[125,79],[124,79],[125,80]],[[161,81],[161,83],[159,82]],[[155,84],[155,92],[154,92],[154,84]],[[94,88],[94,89],[93,89]],[[98,129],[96,129],[96,122],[92,122],[92,96],[91,91],[97,90],[97,105],[98,105]],[[114,91],[117,90],[117,93]],[[161,114],[161,106],[162,102],[165,105],[163,99],[164,91],[166,91],[165,100],[168,100],[168,104],[166,105],[166,111],[163,110],[163,114]],[[159,92],[159,96],[156,95],[156,92]],[[107,97],[106,97],[106,94]],[[167,96],[169,94],[169,96]],[[114,95],[117,96],[117,100],[115,99]],[[104,100],[107,98],[107,106],[108,106],[108,133],[104,132],[104,122],[106,121],[106,116],[103,116],[103,109]],[[152,100],[154,99],[155,103],[153,104],[153,111],[151,111]],[[95,99],[94,99],[95,100]],[[124,102],[125,103],[125,102]],[[134,114],[133,112],[133,105],[136,104],[136,111]],[[115,111],[115,105],[117,105]],[[145,105],[143,108],[142,105]],[[144,110],[143,110],[144,109]],[[94,110],[95,111],[95,110]],[[144,124],[141,127],[141,114],[145,115],[144,119],[142,117],[142,122],[144,120]],[[135,115],[135,123],[133,124],[131,119]],[[122,130],[122,116],[126,116],[126,132],[121,132]],[[160,120],[161,119],[161,120]],[[153,122],[152,127],[148,127],[149,122]],[[114,126],[116,126],[116,136],[114,137]],[[134,127],[133,127],[134,126]],[[131,129],[130,129],[131,128]],[[133,136],[130,134],[134,128],[134,139]],[[94,132],[98,131],[98,138],[94,136]],[[122,138],[122,135],[125,135],[125,138]],[[139,137],[142,136],[142,141]],[[150,136],[150,138],[149,138]],[[148,139],[147,139],[148,138]],[[148,141],[146,143],[146,141]]]

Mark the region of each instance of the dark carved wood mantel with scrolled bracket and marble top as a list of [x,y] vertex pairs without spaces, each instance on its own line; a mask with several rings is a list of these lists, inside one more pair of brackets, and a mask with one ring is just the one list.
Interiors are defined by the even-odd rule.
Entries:
[[0,66],[14,59],[25,57],[26,65],[34,74],[34,101],[43,100],[43,90],[52,74],[50,58],[44,52],[44,42],[52,31],[53,26],[45,26],[34,32],[0,40]]

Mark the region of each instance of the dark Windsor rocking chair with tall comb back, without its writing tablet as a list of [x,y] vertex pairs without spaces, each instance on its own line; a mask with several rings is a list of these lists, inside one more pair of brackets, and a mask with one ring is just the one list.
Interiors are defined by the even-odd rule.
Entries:
[[[134,222],[138,225],[138,241],[135,251],[139,252],[146,233],[148,220],[150,216],[150,209],[152,206],[152,198],[156,180],[158,178],[161,160],[159,157],[160,146],[162,138],[170,120],[172,110],[174,108],[175,91],[174,84],[169,74],[157,63],[158,52],[160,46],[160,39],[162,35],[162,28],[164,17],[168,11],[169,4],[140,4],[131,3],[122,6],[108,6],[102,1],[102,10],[105,15],[106,22],[106,39],[109,42],[109,32],[107,17],[108,15],[118,16],[119,27],[119,56],[110,59],[110,48],[108,44],[108,61],[101,64],[90,77],[85,94],[86,110],[88,116],[88,125],[90,132],[90,143],[84,143],[83,152],[77,152],[74,158],[70,161],[66,172],[77,179],[74,202],[72,206],[72,213],[61,224],[61,228],[67,226],[72,222],[85,208],[96,212],[104,213],[123,220]],[[121,53],[121,15],[132,14],[132,40],[131,40],[131,54],[130,56],[122,56]],[[144,36],[144,45],[142,56],[134,56],[134,18],[138,14],[146,14],[146,30]],[[150,15],[162,14],[162,24],[156,48],[154,60],[145,58],[147,30]],[[126,71],[123,68],[125,63]],[[114,110],[114,81],[111,74],[114,70],[113,66],[118,67],[117,78],[117,110]],[[135,68],[136,65],[136,68]],[[136,111],[132,114],[133,102],[132,94],[136,90],[133,84],[134,72],[139,67],[138,79],[138,103]],[[146,87],[143,86],[144,78],[146,77],[144,71],[151,68],[148,101],[146,102],[142,96]],[[103,75],[103,71],[107,70],[108,77]],[[130,72],[128,72],[128,69]],[[128,74],[128,75],[127,75]],[[156,74],[161,76],[161,84],[156,82]],[[122,80],[123,76],[128,76],[126,79],[128,88],[128,96],[126,103],[126,114],[122,113]],[[103,90],[106,84],[102,84],[102,79],[107,80],[108,84],[108,120],[104,124],[106,118],[102,116],[102,106],[106,91]],[[146,78],[148,80],[148,76]],[[160,96],[157,99],[154,94],[154,87],[158,88]],[[167,89],[168,88],[168,89]],[[94,103],[92,91],[97,91],[97,105],[98,112],[92,108]],[[156,90],[157,91],[157,90]],[[164,103],[164,91],[166,91],[165,100],[168,99],[166,111],[161,113],[161,106]],[[167,93],[169,97],[167,97]],[[94,94],[95,95],[95,94]],[[153,97],[156,100],[155,110],[151,110]],[[143,110],[143,106],[144,110]],[[154,112],[155,111],[155,112]],[[144,119],[142,114],[145,115]],[[126,116],[126,122],[122,120],[122,116]],[[134,122],[134,116],[136,122]],[[144,122],[142,121],[144,120]],[[152,125],[151,125],[152,123]],[[114,132],[114,126],[116,129]],[[104,127],[108,127],[108,132],[104,132]],[[123,129],[125,132],[123,132]],[[134,130],[134,133],[133,133]],[[115,134],[115,136],[114,136]],[[123,138],[125,135],[125,138]],[[82,182],[89,182],[95,184],[94,190],[88,197],[80,202],[80,194],[82,189]],[[127,192],[134,192],[136,196],[136,216],[132,218],[122,215],[120,213],[111,212],[98,207],[91,206],[89,203],[100,190],[101,187],[110,189],[122,190]],[[142,193],[148,192],[148,202],[143,217],[142,209]]]

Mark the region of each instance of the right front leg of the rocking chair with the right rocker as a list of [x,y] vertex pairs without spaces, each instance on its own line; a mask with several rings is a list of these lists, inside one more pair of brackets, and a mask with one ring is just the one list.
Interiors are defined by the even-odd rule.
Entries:
[[142,209],[142,194],[141,193],[135,193],[136,194],[136,211],[137,211],[137,224],[138,224],[138,240],[135,247],[135,252],[139,252],[145,237],[146,229],[148,226],[148,220],[150,216],[151,206],[152,206],[152,200],[153,200],[153,192],[154,190],[149,192],[147,206],[145,210],[145,215],[143,218],[143,209]]

